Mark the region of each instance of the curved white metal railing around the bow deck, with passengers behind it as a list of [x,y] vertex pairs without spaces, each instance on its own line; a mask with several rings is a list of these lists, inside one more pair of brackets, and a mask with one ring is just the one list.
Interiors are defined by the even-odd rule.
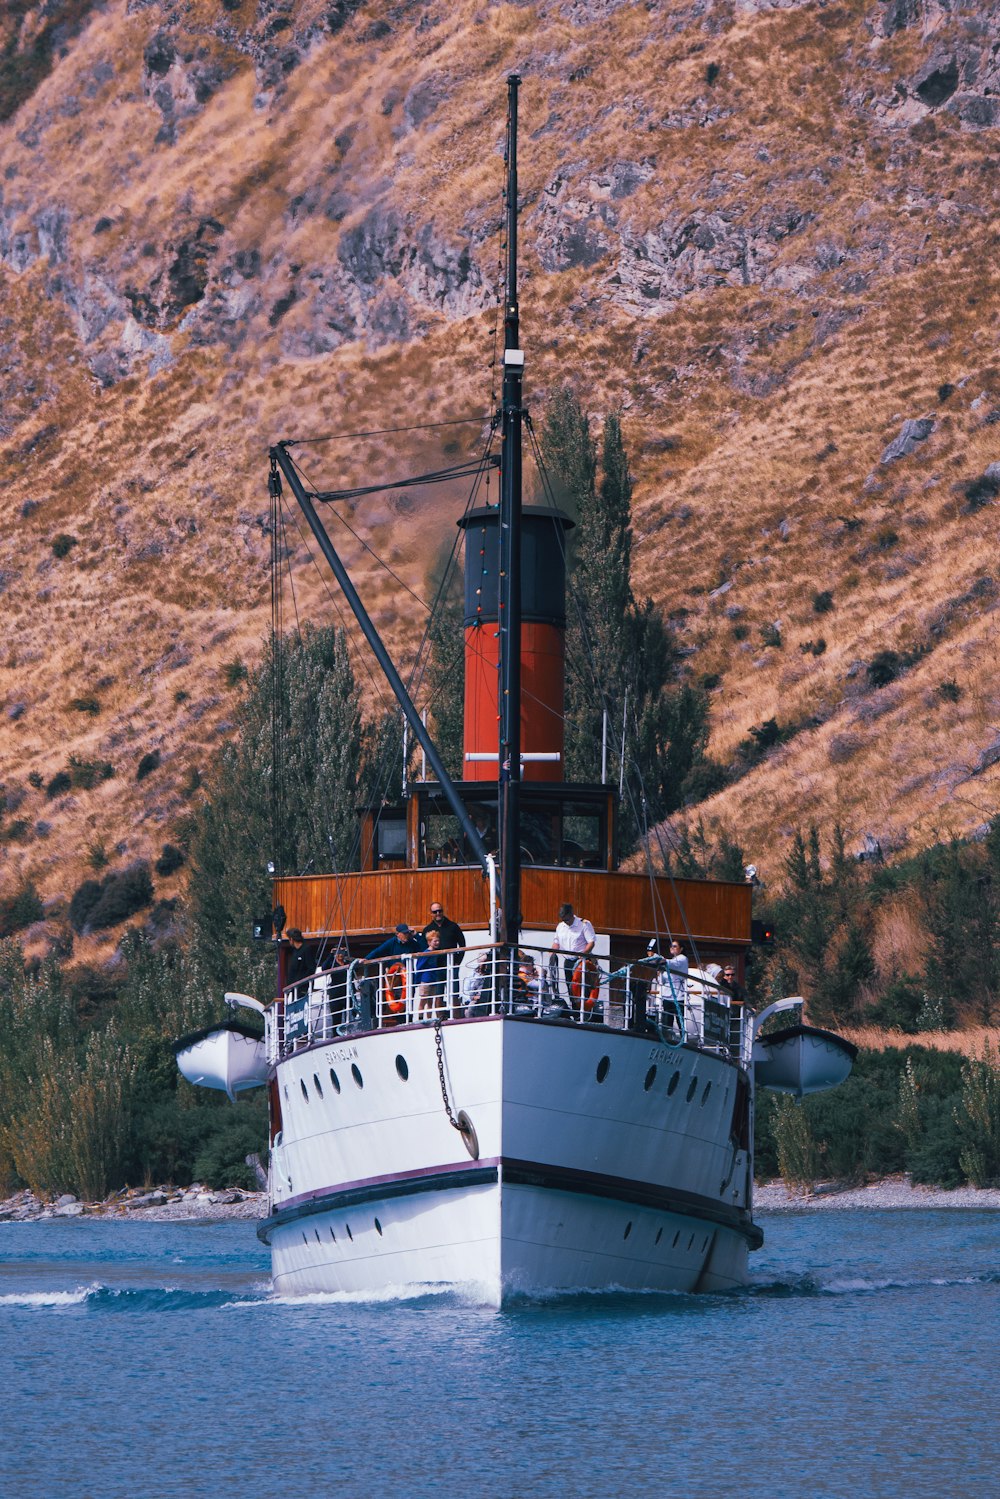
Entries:
[[363,1030],[481,1015],[649,1030],[664,1045],[696,1045],[751,1064],[753,1012],[732,1006],[699,968],[682,977],[646,959],[610,970],[592,955],[499,943],[355,958],[303,979],[267,1010],[267,1057],[277,1061]]

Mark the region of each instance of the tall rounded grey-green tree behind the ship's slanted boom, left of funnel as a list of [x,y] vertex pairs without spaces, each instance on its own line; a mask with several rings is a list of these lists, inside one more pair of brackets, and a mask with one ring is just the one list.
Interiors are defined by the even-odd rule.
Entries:
[[[273,763],[276,706],[282,750]],[[361,712],[346,639],[306,628],[270,640],[250,672],[232,739],[223,745],[190,845],[190,914],[216,982],[268,988],[271,955],[252,946],[270,911],[267,862],[288,872],[351,868],[363,748]],[[277,812],[277,827],[274,818]]]

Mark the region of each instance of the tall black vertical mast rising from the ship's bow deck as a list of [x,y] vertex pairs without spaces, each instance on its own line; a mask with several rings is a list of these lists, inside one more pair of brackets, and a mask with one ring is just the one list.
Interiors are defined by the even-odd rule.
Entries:
[[517,310],[517,88],[507,79],[507,300],[501,403],[499,576],[499,833],[501,937],[520,929],[520,505],[522,376]]

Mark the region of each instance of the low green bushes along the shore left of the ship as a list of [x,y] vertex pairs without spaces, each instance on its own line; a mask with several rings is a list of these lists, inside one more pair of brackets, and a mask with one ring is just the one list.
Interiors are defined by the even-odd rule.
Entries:
[[97,1199],[127,1181],[252,1186],[262,1154],[262,1090],[234,1108],[192,1088],[172,1039],[219,1016],[217,992],[189,949],[156,950],[127,932],[112,1000],[96,1016],[54,964],[31,974],[0,943],[0,1183]]

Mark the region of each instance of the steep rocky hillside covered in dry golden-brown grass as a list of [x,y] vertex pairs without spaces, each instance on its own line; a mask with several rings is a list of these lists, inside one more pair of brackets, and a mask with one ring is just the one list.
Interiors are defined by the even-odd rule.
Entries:
[[[624,406],[639,582],[747,770],[694,815],[772,872],[805,820],[913,848],[994,815],[991,0],[10,0],[0,881],[36,881],[39,946],[226,733],[268,441],[489,411],[513,69],[531,397]],[[340,486],[400,439],[300,453]],[[420,594],[459,496],[406,507],[351,519]],[[405,658],[418,607],[339,540]]]

